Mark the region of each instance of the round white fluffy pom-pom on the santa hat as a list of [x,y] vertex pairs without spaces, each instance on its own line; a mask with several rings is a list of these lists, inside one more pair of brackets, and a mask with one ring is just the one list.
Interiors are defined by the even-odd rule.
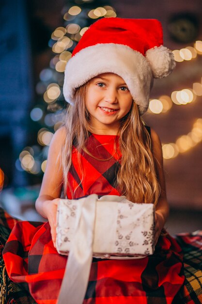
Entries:
[[154,47],[146,52],[154,78],[163,78],[171,74],[175,68],[174,55],[164,46]]

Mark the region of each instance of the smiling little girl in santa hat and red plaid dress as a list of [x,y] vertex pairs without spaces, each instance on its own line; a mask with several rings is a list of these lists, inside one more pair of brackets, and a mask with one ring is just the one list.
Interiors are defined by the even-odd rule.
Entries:
[[162,43],[155,19],[103,18],[86,31],[67,63],[63,93],[70,105],[51,141],[36,201],[48,222],[19,222],[3,252],[11,279],[26,282],[38,304],[57,302],[67,261],[55,249],[62,187],[69,199],[125,195],[155,205],[155,253],[138,260],[93,258],[83,303],[176,301],[184,276],[180,247],[161,233],[169,214],[161,142],[141,119],[153,78],[175,66]]

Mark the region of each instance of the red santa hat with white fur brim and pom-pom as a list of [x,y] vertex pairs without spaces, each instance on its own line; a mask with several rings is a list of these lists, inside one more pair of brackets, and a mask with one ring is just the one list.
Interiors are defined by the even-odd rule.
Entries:
[[115,73],[127,84],[144,114],[153,78],[168,76],[175,67],[163,45],[156,19],[102,18],[81,37],[65,68],[63,94],[73,104],[75,89],[102,73]]

